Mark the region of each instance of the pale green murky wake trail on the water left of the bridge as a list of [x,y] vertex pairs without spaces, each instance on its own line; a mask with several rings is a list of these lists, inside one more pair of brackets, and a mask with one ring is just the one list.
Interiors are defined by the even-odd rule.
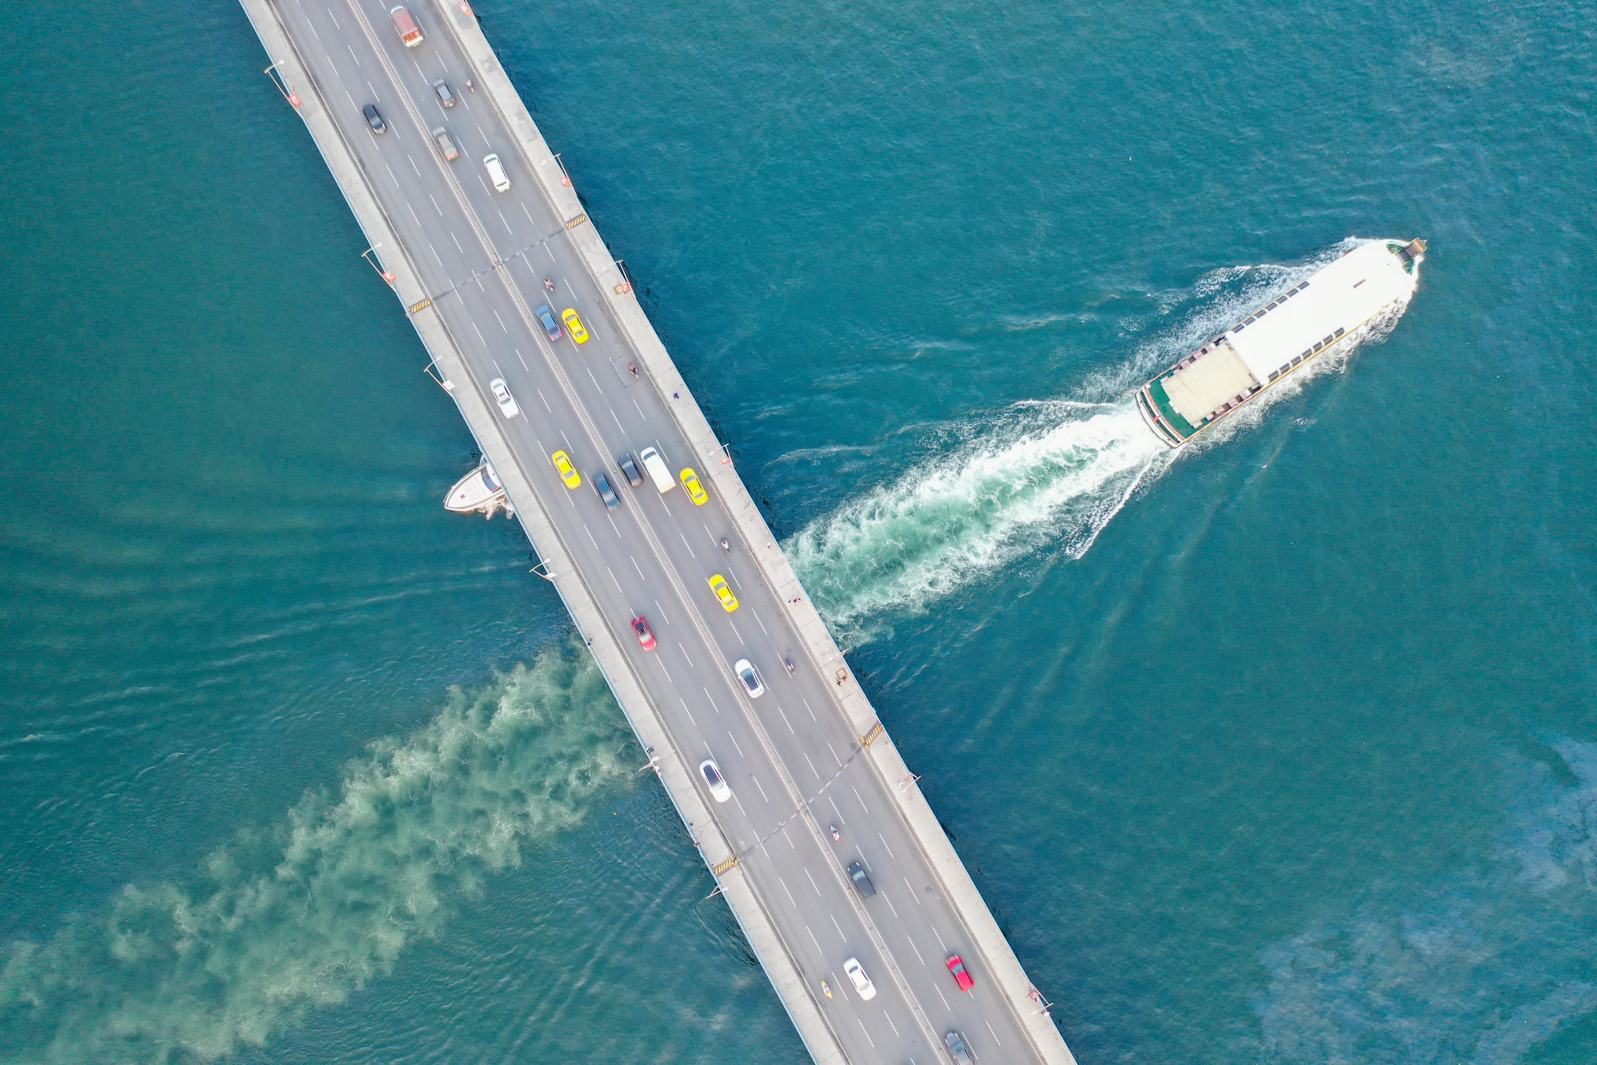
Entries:
[[[351,762],[179,883],[128,885],[0,972],[0,1059],[214,1060],[342,1003],[522,848],[632,778],[586,655],[546,651]],[[597,711],[597,712],[596,712]]]

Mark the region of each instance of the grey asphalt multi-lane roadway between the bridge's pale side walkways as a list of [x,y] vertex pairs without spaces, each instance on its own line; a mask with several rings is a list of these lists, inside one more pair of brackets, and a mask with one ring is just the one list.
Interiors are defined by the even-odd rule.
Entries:
[[[811,990],[830,985],[832,996],[819,995],[819,1004],[848,1059],[947,1062],[944,1033],[958,1030],[979,1062],[1038,1060],[953,909],[933,888],[886,787],[853,758],[859,742],[830,680],[798,655],[784,604],[749,559],[709,479],[709,500],[695,505],[682,487],[661,493],[645,474],[634,489],[616,469],[618,455],[655,447],[677,474],[690,465],[690,450],[663,398],[628,370],[639,359],[565,220],[554,216],[497,109],[466,88],[466,59],[436,10],[410,6],[425,40],[406,48],[388,5],[375,0],[278,0],[276,8],[462,350],[471,380],[455,386],[479,390],[498,410],[489,382],[503,378],[521,410],[505,417],[501,430],[527,481],[676,742],[696,752],[695,765],[714,758],[730,784],[730,802],[711,808]],[[455,96],[452,107],[434,91],[439,80]],[[367,128],[366,104],[377,105],[386,133]],[[430,129],[438,126],[460,150],[454,163],[434,147]],[[505,163],[508,192],[489,184],[482,156],[490,152]],[[493,257],[506,263],[509,283],[493,270]],[[540,305],[557,323],[575,310],[588,340],[575,343],[564,323],[551,340],[533,315]],[[549,458],[556,450],[570,455],[580,487],[562,484]],[[607,509],[594,490],[597,473],[621,497],[618,509]],[[735,612],[709,588],[717,573],[739,600]],[[648,620],[656,650],[634,637],[636,615]],[[733,675],[741,658],[763,677],[760,698],[747,698]],[[794,674],[783,664],[787,658]],[[798,813],[803,802],[813,816]],[[848,880],[853,861],[864,864],[874,897],[861,897]],[[955,953],[976,980],[969,993],[949,974]],[[859,960],[875,998],[864,1000],[850,984],[846,958]]]

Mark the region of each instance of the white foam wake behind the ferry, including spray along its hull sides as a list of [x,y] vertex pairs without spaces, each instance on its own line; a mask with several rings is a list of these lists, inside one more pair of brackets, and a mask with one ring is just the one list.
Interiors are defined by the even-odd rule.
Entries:
[[[806,525],[784,548],[837,637],[845,643],[867,640],[875,634],[874,618],[921,610],[1032,551],[1054,546],[1080,559],[1132,493],[1169,466],[1169,452],[1135,410],[1135,390],[1271,292],[1364,243],[1348,238],[1300,265],[1211,271],[1182,299],[1166,300],[1159,315],[1193,295],[1214,295],[1239,283],[1241,291],[1212,299],[1121,366],[1083,382],[1078,394],[1107,402],[1017,404],[974,442]],[[1258,425],[1270,407],[1300,393],[1308,380],[1340,370],[1353,350],[1383,340],[1405,308],[1356,331],[1182,453],[1209,450]]]

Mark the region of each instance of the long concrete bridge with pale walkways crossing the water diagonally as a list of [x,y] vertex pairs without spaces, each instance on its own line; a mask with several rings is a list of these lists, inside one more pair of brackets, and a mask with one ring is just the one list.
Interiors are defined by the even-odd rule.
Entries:
[[[241,3],[811,1057],[949,1062],[957,1031],[984,1065],[1073,1065],[468,3],[410,0],[422,35],[410,46],[390,0]],[[490,153],[508,190],[482,163]],[[551,340],[540,305],[556,321],[575,310],[588,339],[562,324]],[[631,487],[616,457],[647,447],[672,477],[698,471],[707,498],[647,477]],[[578,487],[554,452],[570,455]],[[597,473],[615,485],[613,509]],[[717,575],[736,610],[712,591]],[[655,650],[634,635],[637,615]],[[754,699],[733,674],[744,658],[763,675]],[[706,786],[707,758],[728,802]],[[874,896],[850,878],[853,862]],[[872,998],[845,974],[848,958]]]

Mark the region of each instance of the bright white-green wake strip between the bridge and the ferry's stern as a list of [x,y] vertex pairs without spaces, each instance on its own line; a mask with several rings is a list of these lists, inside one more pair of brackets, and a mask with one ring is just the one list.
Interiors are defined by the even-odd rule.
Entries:
[[1043,543],[1081,557],[1164,449],[1129,401],[1032,402],[787,544],[834,624],[925,604]]

